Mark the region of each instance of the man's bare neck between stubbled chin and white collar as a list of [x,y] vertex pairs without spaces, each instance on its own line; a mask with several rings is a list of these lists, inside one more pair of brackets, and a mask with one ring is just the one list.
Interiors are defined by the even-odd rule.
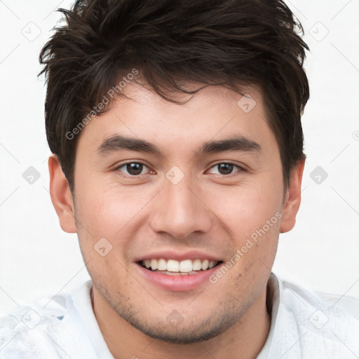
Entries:
[[266,289],[255,303],[226,331],[195,344],[171,344],[152,339],[118,316],[93,288],[93,309],[109,351],[116,359],[256,358],[269,333]]

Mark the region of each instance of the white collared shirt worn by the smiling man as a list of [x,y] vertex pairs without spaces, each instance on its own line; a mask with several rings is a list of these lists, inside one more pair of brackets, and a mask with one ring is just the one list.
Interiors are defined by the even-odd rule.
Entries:
[[[91,287],[89,280],[74,294],[1,318],[0,359],[114,359],[93,313]],[[268,294],[271,327],[257,359],[359,358],[359,299],[312,292],[273,273]]]

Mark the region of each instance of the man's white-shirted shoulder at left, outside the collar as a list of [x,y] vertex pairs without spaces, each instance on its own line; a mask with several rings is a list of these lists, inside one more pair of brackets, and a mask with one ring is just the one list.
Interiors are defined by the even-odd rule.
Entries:
[[42,299],[0,318],[0,359],[69,358],[84,332],[71,294]]

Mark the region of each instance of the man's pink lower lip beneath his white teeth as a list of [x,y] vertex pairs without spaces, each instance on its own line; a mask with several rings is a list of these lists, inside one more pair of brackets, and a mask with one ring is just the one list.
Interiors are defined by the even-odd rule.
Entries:
[[186,290],[196,289],[203,285],[203,283],[210,283],[209,277],[217,271],[223,263],[207,269],[207,271],[198,272],[198,274],[191,274],[187,276],[168,276],[167,274],[157,273],[145,269],[140,264],[136,264],[141,275],[149,282],[158,285],[165,290],[172,290],[172,292],[182,292]]

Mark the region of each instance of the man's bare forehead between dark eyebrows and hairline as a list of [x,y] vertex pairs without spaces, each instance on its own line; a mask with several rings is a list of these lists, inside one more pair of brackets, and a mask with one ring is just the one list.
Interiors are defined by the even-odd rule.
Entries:
[[194,151],[200,143],[236,135],[273,145],[259,88],[245,88],[244,97],[222,86],[208,86],[191,96],[173,94],[180,104],[137,84],[126,86],[125,94],[127,98],[118,97],[109,111],[83,128],[79,146],[95,151],[114,135],[147,140],[172,152]]

